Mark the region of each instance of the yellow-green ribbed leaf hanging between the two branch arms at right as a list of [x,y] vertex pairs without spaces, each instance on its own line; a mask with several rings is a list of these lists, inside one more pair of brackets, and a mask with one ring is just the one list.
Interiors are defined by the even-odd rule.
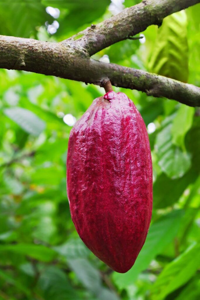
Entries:
[[153,73],[183,82],[188,79],[187,15],[185,10],[163,20],[149,63]]

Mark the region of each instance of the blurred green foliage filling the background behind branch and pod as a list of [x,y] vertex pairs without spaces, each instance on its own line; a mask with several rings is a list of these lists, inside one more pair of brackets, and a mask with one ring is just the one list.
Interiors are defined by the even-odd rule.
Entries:
[[[1,1],[0,33],[61,41],[123,8],[109,5],[109,0]],[[48,6],[60,10],[56,19]],[[122,41],[94,58],[108,55],[111,62],[199,86],[199,13],[196,5],[168,16],[159,29],[144,32],[145,42]],[[53,35],[47,32],[51,26]],[[200,299],[199,108],[115,88],[145,120],[154,171],[145,245],[133,268],[119,274],[80,240],[66,195],[71,125],[103,89],[15,70],[0,70],[0,88],[0,299]]]

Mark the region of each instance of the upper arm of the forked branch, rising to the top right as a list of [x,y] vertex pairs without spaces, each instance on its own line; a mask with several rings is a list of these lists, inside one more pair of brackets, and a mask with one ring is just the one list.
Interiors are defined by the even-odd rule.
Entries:
[[91,56],[106,47],[160,25],[166,16],[199,3],[200,0],[143,0],[98,25],[77,33],[61,43],[72,43]]

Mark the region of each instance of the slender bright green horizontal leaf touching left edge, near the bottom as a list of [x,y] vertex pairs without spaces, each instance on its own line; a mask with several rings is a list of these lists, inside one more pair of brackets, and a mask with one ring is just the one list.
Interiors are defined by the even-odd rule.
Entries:
[[43,262],[51,261],[55,256],[56,252],[43,245],[34,244],[10,244],[0,245],[0,252],[10,251],[13,253],[19,253],[28,255],[34,259],[41,260]]

